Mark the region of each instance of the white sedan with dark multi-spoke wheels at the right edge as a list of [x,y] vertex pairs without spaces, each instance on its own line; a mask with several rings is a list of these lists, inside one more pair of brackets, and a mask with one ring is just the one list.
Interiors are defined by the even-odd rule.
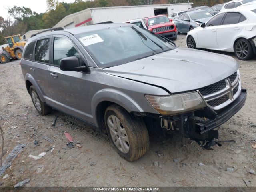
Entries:
[[188,32],[186,45],[234,52],[240,60],[252,58],[256,54],[256,4],[216,14],[206,24]]

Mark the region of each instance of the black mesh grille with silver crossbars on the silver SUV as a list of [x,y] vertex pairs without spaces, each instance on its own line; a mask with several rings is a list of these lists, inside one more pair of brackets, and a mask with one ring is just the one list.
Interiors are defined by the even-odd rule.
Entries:
[[202,94],[209,107],[214,110],[219,110],[230,104],[239,96],[241,92],[239,71],[224,80],[200,88],[198,91]]

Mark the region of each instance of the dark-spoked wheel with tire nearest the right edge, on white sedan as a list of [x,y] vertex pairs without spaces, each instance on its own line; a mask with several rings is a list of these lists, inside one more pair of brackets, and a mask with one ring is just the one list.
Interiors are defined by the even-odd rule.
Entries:
[[247,39],[239,39],[234,45],[234,52],[238,59],[248,60],[253,57],[252,45]]

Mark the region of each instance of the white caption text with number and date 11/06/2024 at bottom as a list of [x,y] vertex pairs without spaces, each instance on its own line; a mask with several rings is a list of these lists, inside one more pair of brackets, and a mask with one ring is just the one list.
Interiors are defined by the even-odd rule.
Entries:
[[93,188],[94,191],[148,191],[148,192],[152,192],[152,191],[160,191],[159,188],[155,188],[155,187],[94,187]]

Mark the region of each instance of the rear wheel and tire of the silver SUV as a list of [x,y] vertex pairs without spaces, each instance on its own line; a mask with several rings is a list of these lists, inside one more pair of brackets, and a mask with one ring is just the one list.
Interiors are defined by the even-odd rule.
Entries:
[[50,108],[40,100],[40,97],[38,96],[34,86],[30,86],[29,92],[32,102],[40,115],[46,115],[51,112],[52,108]]

